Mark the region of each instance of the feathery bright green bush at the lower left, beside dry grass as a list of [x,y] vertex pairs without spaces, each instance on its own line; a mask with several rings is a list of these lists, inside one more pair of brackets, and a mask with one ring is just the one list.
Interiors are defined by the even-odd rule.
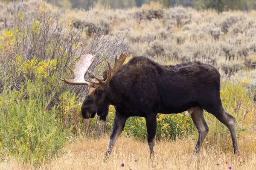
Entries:
[[57,107],[47,108],[44,88],[26,80],[20,91],[6,88],[0,94],[1,154],[40,164],[63,153],[70,130],[60,128]]

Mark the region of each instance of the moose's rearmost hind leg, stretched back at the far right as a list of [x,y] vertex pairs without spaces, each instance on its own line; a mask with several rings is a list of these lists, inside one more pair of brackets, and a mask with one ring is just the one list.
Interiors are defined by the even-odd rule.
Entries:
[[239,146],[238,146],[238,142],[237,142],[237,136],[236,136],[236,117],[232,116],[230,113],[228,113],[223,108],[222,105],[220,106],[219,109],[216,109],[216,110],[211,109],[208,112],[212,113],[221,123],[223,123],[224,125],[227,126],[228,130],[231,133],[234,154],[236,154],[236,153],[241,154],[241,151],[239,150]]

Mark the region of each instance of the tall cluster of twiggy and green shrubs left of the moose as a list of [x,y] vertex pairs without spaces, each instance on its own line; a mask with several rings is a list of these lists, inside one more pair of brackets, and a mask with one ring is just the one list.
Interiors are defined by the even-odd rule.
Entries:
[[0,154],[38,165],[63,153],[72,136],[109,130],[98,119],[81,119],[84,95],[79,94],[87,87],[62,83],[58,78],[72,77],[65,65],[91,53],[96,59],[90,70],[101,73],[102,61],[112,62],[128,46],[125,35],[105,36],[103,30],[88,37],[85,28],[75,28],[73,20],[44,2],[29,12],[26,4],[16,5],[17,16],[0,35]]

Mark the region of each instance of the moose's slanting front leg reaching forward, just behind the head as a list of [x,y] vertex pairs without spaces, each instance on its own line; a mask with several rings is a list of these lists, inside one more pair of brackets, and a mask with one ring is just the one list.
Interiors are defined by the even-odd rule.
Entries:
[[106,152],[107,158],[111,154],[113,146],[116,143],[116,139],[122,133],[122,130],[125,127],[125,122],[126,122],[127,118],[128,118],[127,116],[120,115],[119,112],[116,112],[116,116],[114,118],[114,123],[113,123],[113,130],[112,130],[109,142],[108,142],[108,150]]

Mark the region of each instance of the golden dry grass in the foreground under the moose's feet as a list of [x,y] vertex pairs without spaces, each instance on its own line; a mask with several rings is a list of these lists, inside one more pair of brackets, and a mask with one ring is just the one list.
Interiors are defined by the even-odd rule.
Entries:
[[[255,133],[244,132],[239,138],[241,156],[233,155],[231,141],[224,145],[209,142],[203,145],[198,156],[192,156],[195,139],[162,140],[156,143],[154,161],[149,159],[146,142],[119,137],[110,159],[104,161],[109,136],[99,139],[80,139],[70,143],[68,153],[35,168],[14,159],[0,164],[0,169],[47,169],[47,170],[223,170],[232,165],[235,170],[256,169]],[[218,148],[218,146],[220,146]],[[135,162],[134,160],[137,160]],[[8,159],[7,159],[8,160]],[[121,167],[121,163],[125,166]]]

